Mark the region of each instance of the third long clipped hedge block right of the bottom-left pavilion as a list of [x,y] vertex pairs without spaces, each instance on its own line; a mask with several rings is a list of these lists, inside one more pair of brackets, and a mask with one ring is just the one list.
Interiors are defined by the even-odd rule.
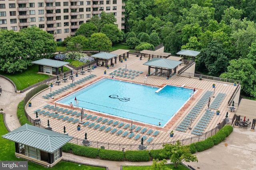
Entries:
[[125,158],[131,162],[142,162],[150,160],[149,152],[147,150],[128,150],[125,152]]

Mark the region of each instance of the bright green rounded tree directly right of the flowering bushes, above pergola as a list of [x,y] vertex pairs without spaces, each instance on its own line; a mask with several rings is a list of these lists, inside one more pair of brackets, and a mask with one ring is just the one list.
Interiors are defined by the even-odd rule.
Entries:
[[111,48],[112,42],[104,33],[93,33],[90,37],[90,47],[94,50],[107,51]]

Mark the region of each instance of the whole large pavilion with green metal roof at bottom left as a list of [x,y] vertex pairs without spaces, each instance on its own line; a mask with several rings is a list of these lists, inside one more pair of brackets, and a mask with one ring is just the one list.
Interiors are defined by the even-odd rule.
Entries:
[[2,136],[15,142],[15,156],[52,167],[62,160],[62,146],[73,137],[25,124]]

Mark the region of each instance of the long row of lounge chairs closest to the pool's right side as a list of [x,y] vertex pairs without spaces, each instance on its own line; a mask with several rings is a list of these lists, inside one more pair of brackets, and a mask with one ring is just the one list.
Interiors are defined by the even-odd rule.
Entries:
[[206,91],[196,105],[190,110],[190,112],[184,117],[183,121],[177,126],[177,131],[186,131],[191,125],[192,121],[196,118],[198,113],[204,108],[209,98],[212,96],[212,91]]

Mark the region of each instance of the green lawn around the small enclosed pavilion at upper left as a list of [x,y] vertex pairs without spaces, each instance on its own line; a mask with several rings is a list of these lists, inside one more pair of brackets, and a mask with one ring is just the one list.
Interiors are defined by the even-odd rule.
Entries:
[[[64,66],[63,70],[66,71],[70,69]],[[49,76],[46,74],[38,74],[38,65],[36,64],[28,66],[28,69],[24,70],[23,72],[16,72],[14,74],[0,72],[0,74],[10,78],[14,82],[14,84],[16,84],[16,87],[19,90],[27,88],[28,83],[31,86],[38,83],[38,79],[41,82],[49,78]]]

